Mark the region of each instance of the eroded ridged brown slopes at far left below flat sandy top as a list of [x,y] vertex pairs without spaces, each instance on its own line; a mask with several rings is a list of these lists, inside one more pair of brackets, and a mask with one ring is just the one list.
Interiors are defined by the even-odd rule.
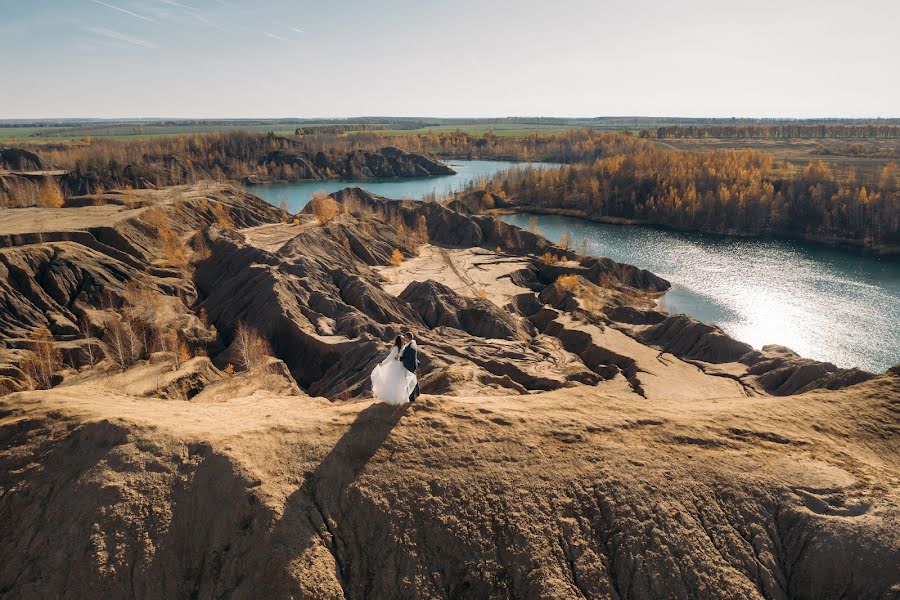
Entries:
[[[138,282],[167,319],[177,320],[192,348],[205,348],[210,334],[190,312],[194,284],[183,266],[166,262],[169,250],[159,223],[170,235],[188,236],[223,215],[242,226],[280,218],[274,207],[228,186],[144,191],[130,207],[26,208],[0,215],[0,363],[9,365],[6,387],[23,385],[15,365],[38,327],[52,334],[65,364],[84,366],[83,346],[95,344],[110,320],[136,302],[131,286]],[[97,350],[93,354],[100,355]]]

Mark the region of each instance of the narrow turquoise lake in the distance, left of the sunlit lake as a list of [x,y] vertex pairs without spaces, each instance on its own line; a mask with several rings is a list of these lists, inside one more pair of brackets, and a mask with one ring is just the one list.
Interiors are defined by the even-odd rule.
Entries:
[[499,160],[448,160],[446,163],[456,171],[456,175],[439,177],[412,177],[395,179],[333,179],[327,181],[301,181],[298,183],[276,183],[248,185],[247,191],[278,206],[282,199],[287,202],[292,213],[299,211],[314,192],[324,191],[327,194],[342,190],[345,187],[359,186],[380,196],[402,199],[411,197],[421,200],[429,194],[438,197],[462,189],[467,183],[479,177],[490,177],[497,171],[511,167],[531,166],[533,168],[557,167],[555,163],[516,163]]

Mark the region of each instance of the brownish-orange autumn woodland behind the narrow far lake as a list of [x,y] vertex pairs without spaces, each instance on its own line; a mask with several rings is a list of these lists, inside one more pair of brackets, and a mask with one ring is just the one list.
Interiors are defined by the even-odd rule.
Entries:
[[[69,173],[59,184],[66,196],[125,187],[163,187],[202,179],[301,181],[352,176],[358,151],[396,146],[444,158],[574,162],[631,153],[649,145],[630,134],[571,131],[562,135],[499,137],[463,131],[420,135],[313,133],[296,137],[245,131],[119,141],[32,144],[43,167]],[[7,204],[31,186],[7,181],[0,189]],[[29,198],[36,197],[36,188]]]

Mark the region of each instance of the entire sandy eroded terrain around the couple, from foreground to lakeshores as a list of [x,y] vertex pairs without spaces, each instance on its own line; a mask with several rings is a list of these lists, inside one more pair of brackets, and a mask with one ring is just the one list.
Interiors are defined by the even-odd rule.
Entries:
[[[0,215],[0,596],[900,593],[896,369],[753,350],[491,217],[332,201]],[[232,375],[239,322],[274,356]],[[123,323],[149,341],[88,361]],[[36,327],[65,360],[29,391]],[[425,395],[373,404],[406,328]]]

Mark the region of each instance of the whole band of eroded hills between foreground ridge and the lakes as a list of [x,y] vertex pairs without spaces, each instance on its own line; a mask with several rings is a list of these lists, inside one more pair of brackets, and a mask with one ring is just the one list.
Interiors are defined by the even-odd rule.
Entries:
[[[179,327],[199,332],[190,339],[219,368],[234,362],[227,350],[236,325],[244,322],[270,341],[302,387],[333,398],[366,393],[369,371],[401,329],[427,341],[422,376],[444,393],[452,381],[523,393],[617,373],[641,389],[637,367],[620,352],[583,340],[583,333],[568,325],[550,326],[552,318],[536,320],[545,305],[593,326],[636,327],[640,341],[688,360],[729,362],[750,351],[717,328],[653,310],[652,298],[668,282],[645,270],[579,257],[493,217],[467,216],[434,202],[388,200],[359,188],[333,198],[339,215],[325,225],[312,215],[300,215],[298,226],[279,224],[279,211],[227,186],[143,190],[131,192],[127,202],[123,194],[111,192],[102,206],[76,198],[69,201],[72,208],[20,209],[0,216],[0,244],[8,246],[0,250],[5,387],[21,384],[15,365],[37,326],[46,326],[67,362],[80,367],[85,330],[102,337],[108,319],[128,302],[126,287],[135,281],[190,311],[204,311],[216,328],[214,340],[195,321],[182,320]],[[42,219],[30,218],[29,210]],[[187,271],[165,262],[167,251],[154,224],[159,210],[178,235],[191,240],[194,259]],[[239,231],[217,224],[222,210]],[[274,227],[282,241],[257,246],[242,233],[260,227]],[[415,256],[422,236],[446,248],[547,253],[562,260],[531,258],[528,266],[510,272],[510,283],[538,294],[518,294],[511,311],[434,281],[415,282],[399,297],[386,293],[373,267],[389,264],[395,249]],[[557,285],[571,275],[579,281],[575,288]],[[512,346],[498,352],[476,341],[489,339]],[[748,382],[770,393],[840,387],[868,376],[797,359],[760,358],[751,368],[755,379]],[[429,378],[432,372],[436,375]],[[437,376],[441,372],[466,375],[448,379]]]

